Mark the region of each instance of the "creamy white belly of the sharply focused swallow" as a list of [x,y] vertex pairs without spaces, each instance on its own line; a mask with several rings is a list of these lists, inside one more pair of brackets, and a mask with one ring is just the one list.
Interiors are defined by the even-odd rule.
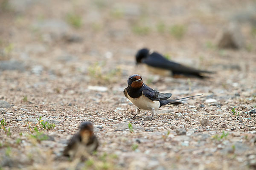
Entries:
[[157,111],[160,107],[159,101],[152,101],[147,97],[145,97],[144,95],[134,99],[131,98],[129,95],[127,96],[130,102],[132,102],[135,106],[137,106],[140,109],[151,111],[151,108],[154,108],[154,110]]

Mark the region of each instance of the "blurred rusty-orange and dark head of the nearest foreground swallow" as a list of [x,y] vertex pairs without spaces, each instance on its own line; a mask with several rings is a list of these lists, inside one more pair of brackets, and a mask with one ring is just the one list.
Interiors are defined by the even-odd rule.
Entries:
[[82,142],[87,143],[89,138],[93,136],[93,125],[90,122],[82,122],[79,128],[80,128],[79,133],[80,133]]

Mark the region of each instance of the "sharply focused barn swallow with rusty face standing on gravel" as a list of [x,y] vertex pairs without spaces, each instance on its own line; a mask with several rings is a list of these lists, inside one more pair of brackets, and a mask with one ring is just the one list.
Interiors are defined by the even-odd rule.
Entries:
[[[178,105],[182,103],[180,99],[170,100],[171,93],[160,93],[145,85],[142,81],[142,77],[138,74],[133,74],[128,78],[128,87],[125,88],[125,97],[130,100],[135,106],[137,106],[135,116],[140,113],[140,110],[147,110],[152,112],[151,119],[153,119],[154,113],[161,106],[164,105]],[[201,94],[202,95],[202,94]],[[197,95],[197,96],[201,96]],[[184,97],[181,99],[191,98],[195,96]]]

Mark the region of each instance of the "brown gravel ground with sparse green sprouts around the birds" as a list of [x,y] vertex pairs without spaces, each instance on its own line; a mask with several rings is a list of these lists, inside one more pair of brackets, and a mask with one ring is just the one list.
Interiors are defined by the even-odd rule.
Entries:
[[[255,1],[0,4],[0,169],[256,169]],[[225,31],[236,49],[221,48]],[[135,65],[143,47],[216,73],[152,74]],[[135,73],[174,99],[204,98],[131,119],[136,107],[123,90]],[[83,121],[100,146],[70,161],[61,151]]]

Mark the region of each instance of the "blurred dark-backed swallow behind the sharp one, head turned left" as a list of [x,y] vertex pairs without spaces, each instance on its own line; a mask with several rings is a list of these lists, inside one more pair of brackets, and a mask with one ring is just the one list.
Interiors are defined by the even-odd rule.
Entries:
[[185,75],[185,76],[194,76],[199,78],[207,78],[202,74],[208,73],[212,74],[212,71],[205,71],[205,70],[198,70],[195,68],[187,67],[181,65],[176,62],[169,61],[163,55],[149,51],[147,48],[140,49],[136,54],[136,63],[145,63],[151,71],[156,71],[157,74],[163,74],[163,71],[167,71],[168,74],[170,71],[172,72],[173,76],[176,75]]

